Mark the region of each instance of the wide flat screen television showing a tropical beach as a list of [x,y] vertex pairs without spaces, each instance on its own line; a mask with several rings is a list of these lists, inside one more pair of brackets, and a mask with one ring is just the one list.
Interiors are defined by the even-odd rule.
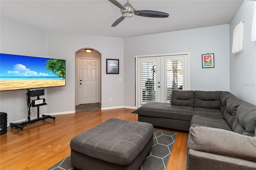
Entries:
[[0,91],[66,85],[66,60],[0,53]]

